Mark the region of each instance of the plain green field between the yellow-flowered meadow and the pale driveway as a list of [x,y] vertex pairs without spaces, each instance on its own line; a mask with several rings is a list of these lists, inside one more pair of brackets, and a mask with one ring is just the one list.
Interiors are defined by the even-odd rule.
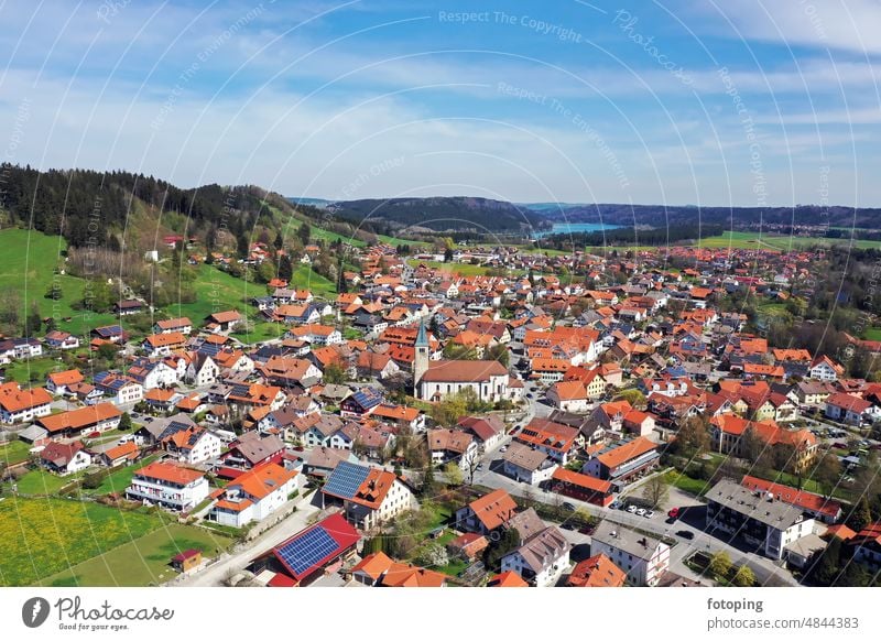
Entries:
[[40,585],[138,587],[160,584],[177,575],[170,561],[178,552],[195,548],[200,550],[205,556],[213,557],[230,543],[230,539],[204,528],[172,523],[100,556],[47,576]]

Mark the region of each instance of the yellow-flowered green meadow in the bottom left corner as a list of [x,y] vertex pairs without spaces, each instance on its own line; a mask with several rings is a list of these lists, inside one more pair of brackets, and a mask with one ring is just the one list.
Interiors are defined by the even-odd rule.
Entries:
[[62,499],[0,501],[0,585],[31,585],[140,539],[157,515]]

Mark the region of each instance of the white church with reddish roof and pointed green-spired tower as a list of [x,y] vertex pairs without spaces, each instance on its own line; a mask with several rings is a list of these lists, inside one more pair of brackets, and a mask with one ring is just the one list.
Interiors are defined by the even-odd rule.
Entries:
[[435,360],[429,359],[428,337],[425,325],[414,344],[413,387],[417,399],[440,401],[471,388],[483,402],[496,403],[514,400],[516,395],[509,387],[508,368],[497,360]]

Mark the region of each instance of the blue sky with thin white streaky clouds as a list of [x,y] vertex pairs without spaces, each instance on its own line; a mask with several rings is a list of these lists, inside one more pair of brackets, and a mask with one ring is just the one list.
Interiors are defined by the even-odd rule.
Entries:
[[881,206],[873,0],[0,0],[2,160],[327,198]]

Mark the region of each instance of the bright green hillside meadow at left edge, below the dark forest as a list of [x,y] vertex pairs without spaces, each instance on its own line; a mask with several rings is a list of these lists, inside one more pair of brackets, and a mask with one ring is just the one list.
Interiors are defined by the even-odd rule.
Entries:
[[[115,322],[112,314],[94,314],[75,311],[70,305],[83,298],[86,281],[70,275],[53,275],[55,268],[64,264],[62,252],[67,242],[59,236],[46,236],[25,229],[4,229],[0,231],[0,256],[3,269],[0,270],[0,290],[13,289],[19,292],[24,318],[35,301],[43,317],[54,317],[61,329],[81,335],[91,327]],[[59,301],[45,298],[46,290],[57,279],[62,291]],[[70,317],[69,322],[63,318]]]

